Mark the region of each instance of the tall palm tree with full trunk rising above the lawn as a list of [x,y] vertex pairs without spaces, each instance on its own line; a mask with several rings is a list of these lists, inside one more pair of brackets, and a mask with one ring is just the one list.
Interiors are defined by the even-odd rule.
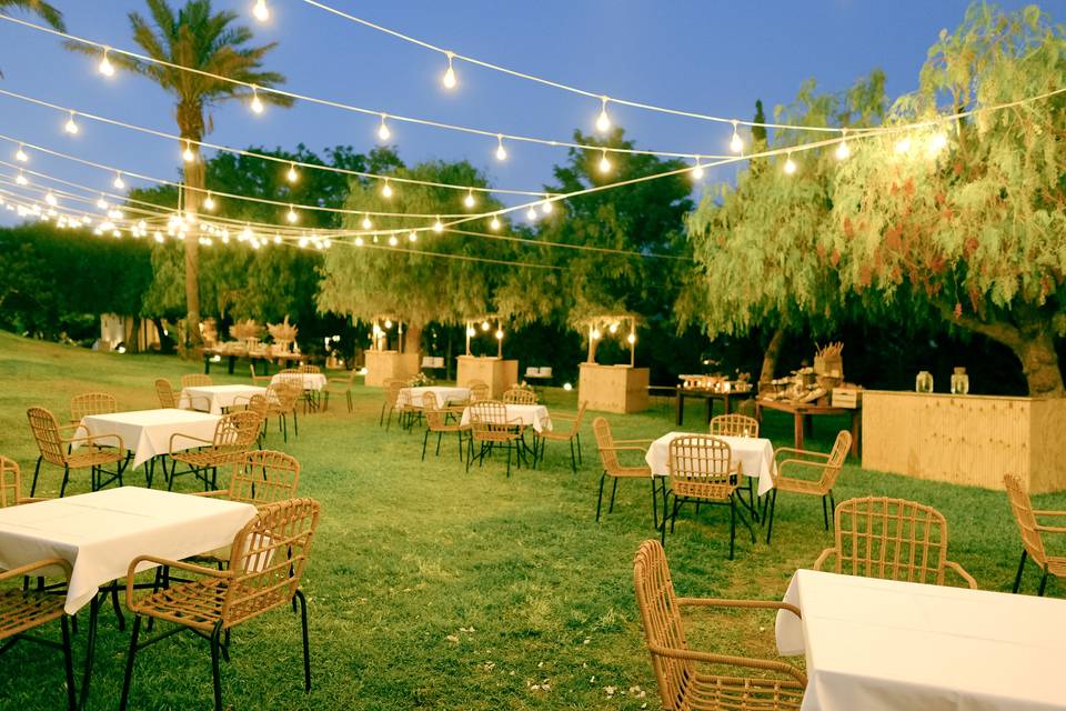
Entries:
[[[2,1],[2,0],[0,0]],[[124,54],[112,53],[109,59],[114,67],[148,77],[178,100],[178,128],[193,160],[184,164],[184,209],[197,214],[204,188],[204,166],[198,142],[213,123],[211,108],[224,101],[243,101],[255,94],[252,87],[265,88],[283,83],[285,78],[273,71],[263,71],[262,60],[276,42],[262,47],[248,47],[252,31],[233,26],[238,16],[233,12],[212,12],[211,0],[189,0],[175,14],[167,0],[147,0],[154,26],[139,12],[131,12],[130,27],[133,41],[152,59],[197,69],[202,72],[227,77],[237,82],[214,79],[173,67],[142,61]],[[98,48],[77,42],[69,49],[88,54],[100,54]],[[274,93],[259,93],[263,103],[292,106],[292,100]],[[200,260],[199,242],[184,240],[185,244],[185,309],[187,341],[199,344],[200,338]]]

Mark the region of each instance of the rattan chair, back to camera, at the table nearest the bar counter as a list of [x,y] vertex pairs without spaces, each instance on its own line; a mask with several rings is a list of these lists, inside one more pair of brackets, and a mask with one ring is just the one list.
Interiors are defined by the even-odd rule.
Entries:
[[[664,497],[664,515],[670,511],[670,532],[674,532],[677,511],[684,503],[704,503],[730,508],[730,560],[736,542],[736,520],[747,528],[755,542],[755,530],[744,515],[743,501],[738,508],[740,473],[733,464],[733,450],[727,442],[710,434],[683,434],[670,441],[670,491]],[[670,495],[674,505],[668,507]],[[666,519],[663,519],[662,542],[666,543]]]

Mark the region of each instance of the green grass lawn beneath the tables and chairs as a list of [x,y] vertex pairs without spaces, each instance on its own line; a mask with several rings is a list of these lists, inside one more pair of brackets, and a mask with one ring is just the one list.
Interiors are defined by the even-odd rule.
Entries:
[[[154,378],[177,384],[181,373],[199,370],[175,358],[92,353],[10,334],[0,334],[0,453],[22,465],[27,490],[37,457],[28,407],[48,407],[64,420],[72,394],[105,390],[120,409],[154,408]],[[222,668],[227,702],[238,709],[658,708],[631,565],[640,542],[655,535],[650,487],[622,482],[614,513],[595,522],[600,467],[591,418],[576,475],[565,445],[550,443],[542,469],[506,479],[502,460],[467,474],[452,441],[440,459],[431,452],[420,461],[421,431],[378,427],[381,398],[379,390],[360,389],[354,413],[335,402],[326,413],[301,418],[300,437],[288,444],[271,427],[266,445],[300,460],[300,492],[323,510],[303,583],[314,688],[310,695],[301,690],[299,618],[283,610],[238,628],[232,662]],[[574,410],[576,392],[549,390],[546,402]],[[767,414],[764,431],[791,444],[791,419],[778,414]],[[701,408],[690,410],[690,429],[702,415]],[[617,437],[675,429],[665,408],[609,419]],[[835,428],[817,434],[813,444],[827,448]],[[47,470],[39,495],[58,493],[60,478]],[[143,483],[140,470],[127,483]],[[179,487],[191,490],[193,482],[184,478]],[[72,488],[87,490],[88,477]],[[951,525],[951,557],[982,588],[1009,590],[1020,548],[1004,493],[847,467],[836,500],[865,494],[936,507]],[[1066,495],[1036,503],[1064,509]],[[832,543],[819,502],[787,494],[777,501],[773,544],[762,540],[752,545],[738,535],[736,560],[728,561],[727,513],[704,509],[695,519],[683,512],[667,540],[674,584],[681,594],[777,600],[793,571]],[[1032,568],[1028,582],[1034,590]],[[1049,593],[1063,590],[1052,582]],[[715,651],[775,652],[768,613],[698,622],[694,640]],[[90,708],[118,707],[128,642],[114,615],[102,614]],[[79,654],[83,643],[81,632]],[[58,653],[19,644],[0,670],[0,708],[60,708]],[[138,654],[131,707],[209,708],[210,688],[207,644],[179,635]]]

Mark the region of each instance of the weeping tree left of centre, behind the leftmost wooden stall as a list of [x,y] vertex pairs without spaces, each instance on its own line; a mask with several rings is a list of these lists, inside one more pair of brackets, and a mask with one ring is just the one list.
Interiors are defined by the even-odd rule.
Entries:
[[[426,182],[487,187],[484,177],[469,162],[426,162],[400,168],[396,178]],[[486,313],[493,308],[493,293],[514,260],[507,242],[446,230],[426,230],[441,216],[497,210],[502,206],[487,193],[472,193],[476,204],[465,204],[465,192],[449,188],[420,186],[392,180],[390,197],[381,181],[353,181],[346,208],[365,212],[392,212],[398,217],[351,214],[344,228],[358,233],[362,246],[344,240],[325,254],[318,304],[332,311],[369,320],[379,313],[402,318],[408,342],[419,347],[422,329],[431,321],[460,323],[466,316]],[[420,214],[421,218],[399,217]],[[364,220],[370,220],[364,224]],[[456,226],[462,231],[485,231],[483,220]],[[411,240],[411,229],[415,240]],[[467,229],[470,228],[470,229]],[[390,240],[395,240],[391,244]]]

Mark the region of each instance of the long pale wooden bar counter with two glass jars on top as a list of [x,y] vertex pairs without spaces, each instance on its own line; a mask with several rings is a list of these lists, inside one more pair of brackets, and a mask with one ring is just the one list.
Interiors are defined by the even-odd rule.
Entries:
[[1000,490],[1013,473],[1033,493],[1062,491],[1063,432],[1066,399],[863,394],[864,469]]

